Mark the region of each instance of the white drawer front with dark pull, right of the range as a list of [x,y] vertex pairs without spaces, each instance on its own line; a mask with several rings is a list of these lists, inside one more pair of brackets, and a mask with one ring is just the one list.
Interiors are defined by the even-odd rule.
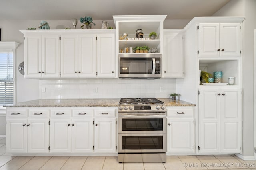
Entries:
[[167,116],[170,117],[193,117],[193,108],[189,107],[174,107],[167,109]]

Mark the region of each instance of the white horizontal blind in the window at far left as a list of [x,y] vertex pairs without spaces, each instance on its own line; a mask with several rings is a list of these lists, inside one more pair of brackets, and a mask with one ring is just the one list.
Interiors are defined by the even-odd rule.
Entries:
[[0,105],[12,104],[13,100],[13,53],[0,51]]

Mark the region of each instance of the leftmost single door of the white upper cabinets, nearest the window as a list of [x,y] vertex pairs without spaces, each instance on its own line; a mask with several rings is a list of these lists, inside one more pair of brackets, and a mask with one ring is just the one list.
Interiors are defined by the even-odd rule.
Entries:
[[24,77],[42,77],[42,35],[25,36]]

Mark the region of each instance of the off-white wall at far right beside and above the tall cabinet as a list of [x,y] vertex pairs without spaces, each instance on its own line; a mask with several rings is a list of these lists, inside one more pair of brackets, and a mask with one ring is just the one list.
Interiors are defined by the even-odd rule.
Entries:
[[244,16],[242,155],[254,156],[254,29],[256,0],[231,0],[213,16]]

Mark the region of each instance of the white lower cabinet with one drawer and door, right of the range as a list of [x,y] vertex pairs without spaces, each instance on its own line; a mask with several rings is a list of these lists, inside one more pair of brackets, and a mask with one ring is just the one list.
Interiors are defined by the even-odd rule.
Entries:
[[194,108],[167,107],[168,153],[194,152]]

